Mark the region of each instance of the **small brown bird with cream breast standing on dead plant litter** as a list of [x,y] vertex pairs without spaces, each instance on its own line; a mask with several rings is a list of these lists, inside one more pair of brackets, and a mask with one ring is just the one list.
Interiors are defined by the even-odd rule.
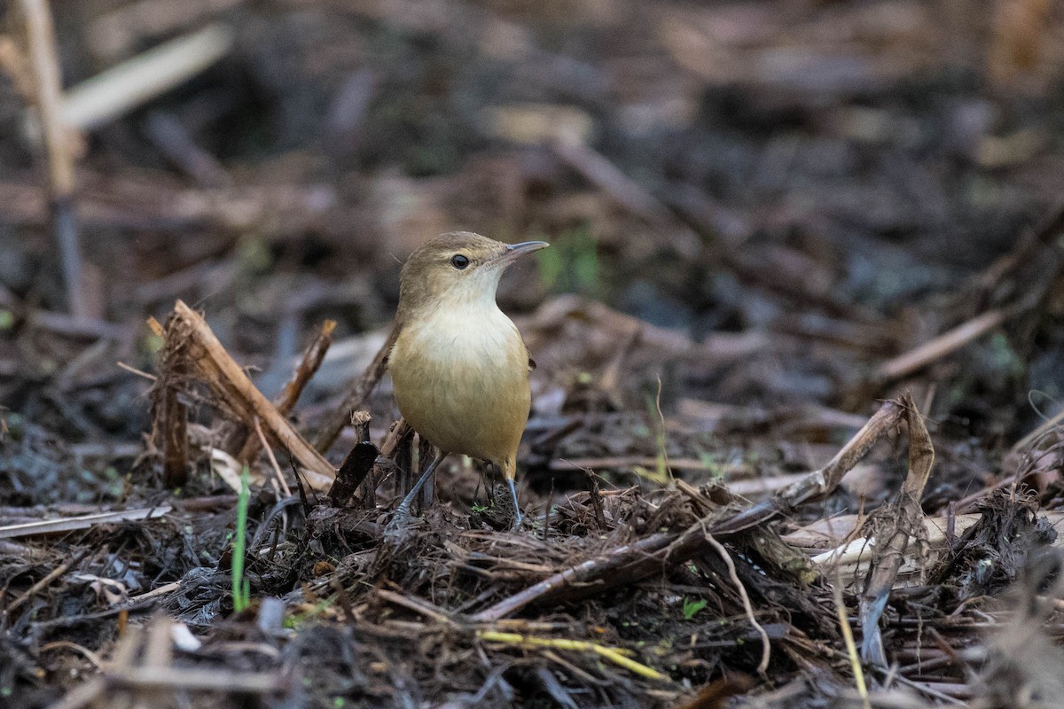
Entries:
[[393,518],[410,506],[449,453],[495,463],[514,497],[517,445],[528,423],[535,366],[517,326],[495,302],[502,272],[546,241],[506,244],[470,232],[443,234],[402,267],[387,367],[399,411],[439,454]]

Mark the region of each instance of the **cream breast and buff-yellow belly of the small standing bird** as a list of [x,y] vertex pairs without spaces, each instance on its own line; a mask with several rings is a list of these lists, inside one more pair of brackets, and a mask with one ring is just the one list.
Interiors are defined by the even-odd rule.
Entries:
[[432,325],[404,328],[392,351],[399,411],[443,451],[512,467],[531,399],[520,334],[498,310]]

